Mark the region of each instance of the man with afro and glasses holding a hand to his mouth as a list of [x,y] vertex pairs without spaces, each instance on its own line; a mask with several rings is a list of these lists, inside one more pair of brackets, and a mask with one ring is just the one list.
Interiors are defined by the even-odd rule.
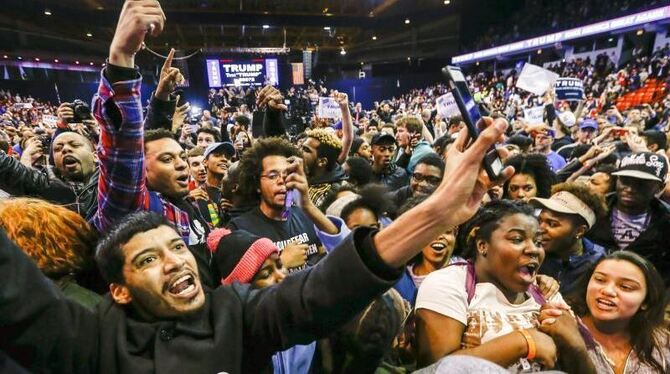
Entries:
[[262,139],[249,148],[240,160],[239,188],[246,200],[258,201],[258,207],[230,223],[233,230],[272,240],[289,271],[312,266],[323,257],[317,230],[340,233],[310,200],[299,157],[300,151],[280,138]]

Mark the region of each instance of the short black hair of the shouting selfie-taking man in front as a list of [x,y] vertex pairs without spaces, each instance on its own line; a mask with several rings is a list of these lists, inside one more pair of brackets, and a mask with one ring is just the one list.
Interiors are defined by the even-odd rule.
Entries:
[[98,243],[95,262],[105,282],[123,284],[123,247],[136,234],[153,230],[160,226],[174,229],[164,216],[152,212],[137,212],[124,217],[123,222],[108,232]]

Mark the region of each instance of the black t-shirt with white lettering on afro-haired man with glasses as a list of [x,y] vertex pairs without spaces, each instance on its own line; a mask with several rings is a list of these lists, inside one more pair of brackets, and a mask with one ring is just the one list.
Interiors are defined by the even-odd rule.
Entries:
[[268,238],[275,243],[280,251],[294,241],[300,244],[308,244],[306,266],[289,269],[290,271],[311,267],[324,256],[321,241],[314,230],[314,223],[297,207],[291,208],[291,214],[286,221],[275,221],[268,218],[263,214],[260,207],[256,207],[234,218],[230,222],[230,229],[245,230],[260,237]]

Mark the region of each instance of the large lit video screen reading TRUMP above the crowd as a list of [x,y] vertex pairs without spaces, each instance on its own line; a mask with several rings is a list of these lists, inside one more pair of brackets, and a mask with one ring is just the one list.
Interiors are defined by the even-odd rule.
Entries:
[[207,79],[211,88],[277,85],[279,67],[276,58],[207,59]]

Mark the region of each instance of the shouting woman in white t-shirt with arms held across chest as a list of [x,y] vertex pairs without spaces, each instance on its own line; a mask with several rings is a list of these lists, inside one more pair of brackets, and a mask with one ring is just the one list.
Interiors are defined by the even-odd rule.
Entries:
[[[419,365],[459,354],[492,361],[511,372],[534,372],[555,367],[559,357],[572,365],[581,361],[575,357],[587,357],[583,344],[557,348],[551,336],[536,328],[541,304],[564,302],[559,293],[545,298],[536,285],[544,250],[533,208],[523,202],[494,201],[460,230],[469,261],[429,274],[419,288]],[[576,327],[567,333],[579,335]],[[570,373],[581,372],[569,362],[560,364]]]

